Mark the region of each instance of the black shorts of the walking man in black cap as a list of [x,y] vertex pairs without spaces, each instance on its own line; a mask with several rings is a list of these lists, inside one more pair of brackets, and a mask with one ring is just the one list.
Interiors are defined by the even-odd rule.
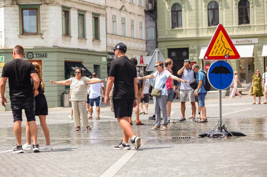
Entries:
[[115,118],[132,117],[134,99],[113,99]]

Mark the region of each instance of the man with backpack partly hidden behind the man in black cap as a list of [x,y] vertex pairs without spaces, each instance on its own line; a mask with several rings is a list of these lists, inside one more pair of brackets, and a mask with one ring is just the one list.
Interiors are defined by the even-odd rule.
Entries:
[[[133,62],[135,64],[135,66],[137,65],[137,60],[136,60],[136,57],[134,58],[131,58],[130,59],[131,62]],[[136,66],[136,72],[137,72],[137,77],[144,77],[144,73],[143,71]],[[135,115],[136,115],[136,125],[144,125],[144,123],[142,123],[140,120],[139,120],[139,103],[141,103],[141,97],[144,98],[144,93],[143,93],[143,90],[144,90],[144,87],[145,87],[145,79],[138,79],[137,80],[137,85],[138,85],[138,92],[137,92],[137,103],[138,105],[135,107]],[[130,124],[133,125],[132,123],[132,118],[129,117],[129,121],[130,121]]]

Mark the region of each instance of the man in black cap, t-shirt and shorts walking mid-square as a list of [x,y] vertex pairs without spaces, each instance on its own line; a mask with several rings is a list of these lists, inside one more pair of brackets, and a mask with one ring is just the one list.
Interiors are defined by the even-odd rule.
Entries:
[[130,149],[128,143],[131,138],[131,143],[135,145],[135,149],[140,148],[140,138],[134,135],[131,128],[129,117],[133,112],[133,107],[138,105],[137,103],[137,72],[136,66],[127,57],[125,52],[127,47],[123,43],[118,43],[115,47],[111,48],[114,51],[116,59],[110,64],[109,77],[107,80],[107,88],[105,95],[105,104],[109,102],[109,92],[114,82],[113,90],[113,106],[114,114],[119,124],[123,129],[123,140],[115,146],[115,149]]

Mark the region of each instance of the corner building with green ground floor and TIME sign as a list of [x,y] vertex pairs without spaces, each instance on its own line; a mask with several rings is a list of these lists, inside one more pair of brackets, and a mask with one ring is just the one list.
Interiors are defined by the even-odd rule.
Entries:
[[[82,67],[86,76],[97,72],[107,78],[105,0],[5,0],[0,1],[1,48],[4,62],[13,60],[12,50],[22,45],[25,60],[42,66],[48,107],[62,105],[69,86],[51,85],[66,80]],[[6,85],[5,97],[9,100]],[[10,110],[1,107],[0,111]]]

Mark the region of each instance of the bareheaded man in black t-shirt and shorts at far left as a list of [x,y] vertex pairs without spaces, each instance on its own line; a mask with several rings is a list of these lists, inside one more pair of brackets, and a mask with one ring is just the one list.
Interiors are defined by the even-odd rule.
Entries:
[[[10,103],[14,118],[14,134],[17,140],[17,147],[13,150],[13,153],[23,153],[21,146],[22,109],[25,110],[32,134],[33,151],[40,152],[39,145],[37,144],[34,99],[34,97],[38,95],[37,88],[40,80],[33,64],[22,60],[22,57],[24,56],[24,49],[22,46],[15,46],[12,54],[14,60],[3,66],[0,90],[2,98],[1,104],[5,107],[5,103],[7,103],[7,99],[5,98],[5,85],[8,78]],[[30,78],[33,78],[34,80],[34,89],[32,88]]]

